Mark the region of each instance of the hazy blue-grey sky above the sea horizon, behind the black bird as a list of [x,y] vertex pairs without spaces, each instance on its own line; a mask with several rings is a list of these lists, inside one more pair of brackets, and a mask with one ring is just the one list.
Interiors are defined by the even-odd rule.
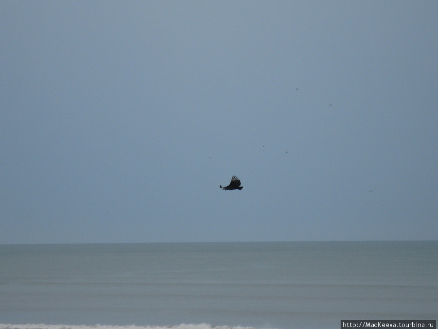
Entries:
[[0,244],[438,239],[437,1],[3,0],[0,27]]

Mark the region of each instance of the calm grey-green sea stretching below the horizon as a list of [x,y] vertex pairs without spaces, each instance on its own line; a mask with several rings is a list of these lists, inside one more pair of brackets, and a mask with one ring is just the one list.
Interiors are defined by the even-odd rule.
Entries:
[[0,245],[0,329],[436,320],[438,241]]

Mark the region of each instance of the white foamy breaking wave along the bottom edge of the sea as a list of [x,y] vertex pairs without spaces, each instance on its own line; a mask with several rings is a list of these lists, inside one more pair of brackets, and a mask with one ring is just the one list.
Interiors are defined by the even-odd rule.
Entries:
[[27,324],[27,325],[11,325],[1,324],[0,329],[256,329],[253,327],[226,327],[226,326],[211,326],[206,323],[199,325],[181,324],[177,326],[70,326],[70,325],[45,325],[45,324]]

